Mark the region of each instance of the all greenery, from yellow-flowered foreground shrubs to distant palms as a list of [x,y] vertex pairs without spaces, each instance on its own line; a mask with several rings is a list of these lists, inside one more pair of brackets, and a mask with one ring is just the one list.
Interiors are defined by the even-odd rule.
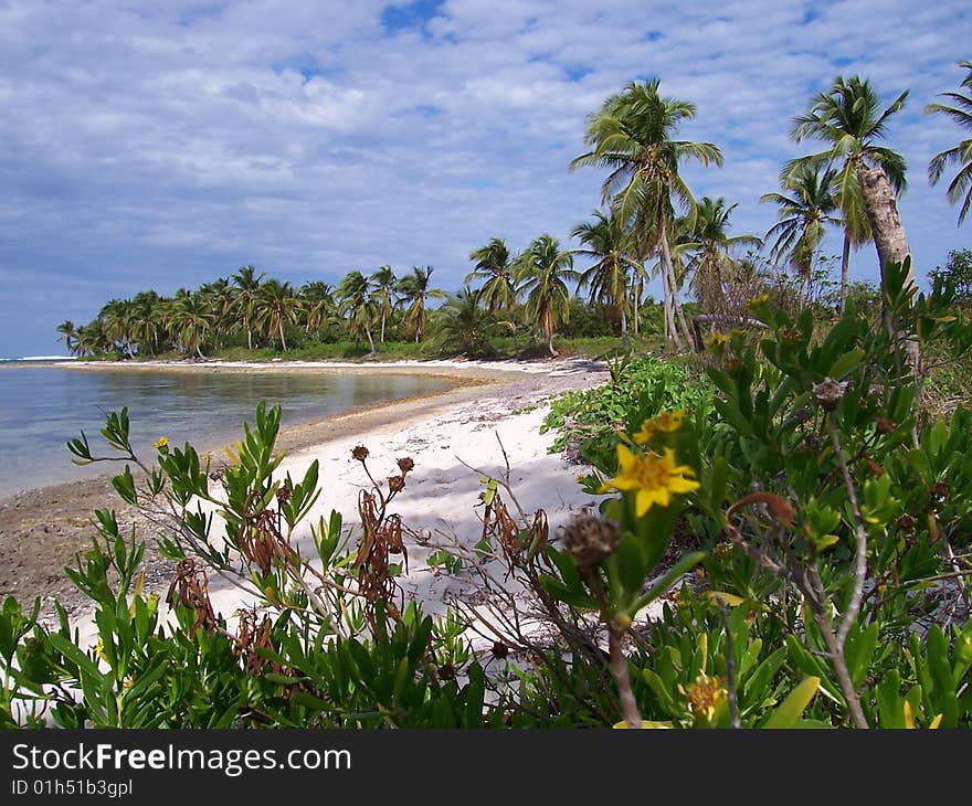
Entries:
[[[165,437],[139,457],[127,411],[110,413],[110,457],[84,434],[68,447],[124,463],[114,489],[155,524],[169,587],[146,591],[146,535],[98,510],[66,570],[97,636],[8,598],[0,722],[972,727],[970,259],[953,251],[917,285],[906,165],[887,145],[907,97],[884,104],[850,76],[810,99],[790,134],[822,150],[762,198],[778,208],[765,243],[730,232],[733,202],[696,199],[684,167],[722,153],[676,139],[696,108],[654,78],[588,119],[570,167],[608,174],[579,247],[493,237],[469,254],[479,286],[451,295],[432,266],[299,289],[244,266],[63,322],[68,349],[119,360],[606,358],[609,381],[550,401],[542,425],[596,503],[551,528],[521,506],[500,443],[501,471],[467,466],[469,545],[403,522],[414,462],[362,437],[357,518],[307,523],[326,490],[316,462],[281,473],[279,409],[261,404],[221,465]],[[966,99],[947,97],[929,110],[964,126]],[[934,157],[930,180],[964,148]],[[948,191],[960,223],[966,168]],[[826,227],[843,232],[839,261],[822,253]],[[852,283],[850,250],[870,242],[880,282]],[[463,591],[436,617],[401,584],[422,560]],[[220,612],[214,577],[245,606]]]

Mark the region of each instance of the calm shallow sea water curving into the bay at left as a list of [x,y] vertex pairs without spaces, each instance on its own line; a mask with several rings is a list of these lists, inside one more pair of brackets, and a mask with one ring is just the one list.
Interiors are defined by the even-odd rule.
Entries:
[[[118,463],[71,464],[66,443],[83,429],[93,449],[112,454],[98,433],[103,412],[128,406],[136,453],[151,457],[160,436],[218,447],[253,423],[256,404],[283,407],[282,427],[357,406],[444,389],[442,378],[286,370],[210,372],[76,370],[0,363],[0,497],[120,469]],[[103,449],[104,448],[104,449]]]

